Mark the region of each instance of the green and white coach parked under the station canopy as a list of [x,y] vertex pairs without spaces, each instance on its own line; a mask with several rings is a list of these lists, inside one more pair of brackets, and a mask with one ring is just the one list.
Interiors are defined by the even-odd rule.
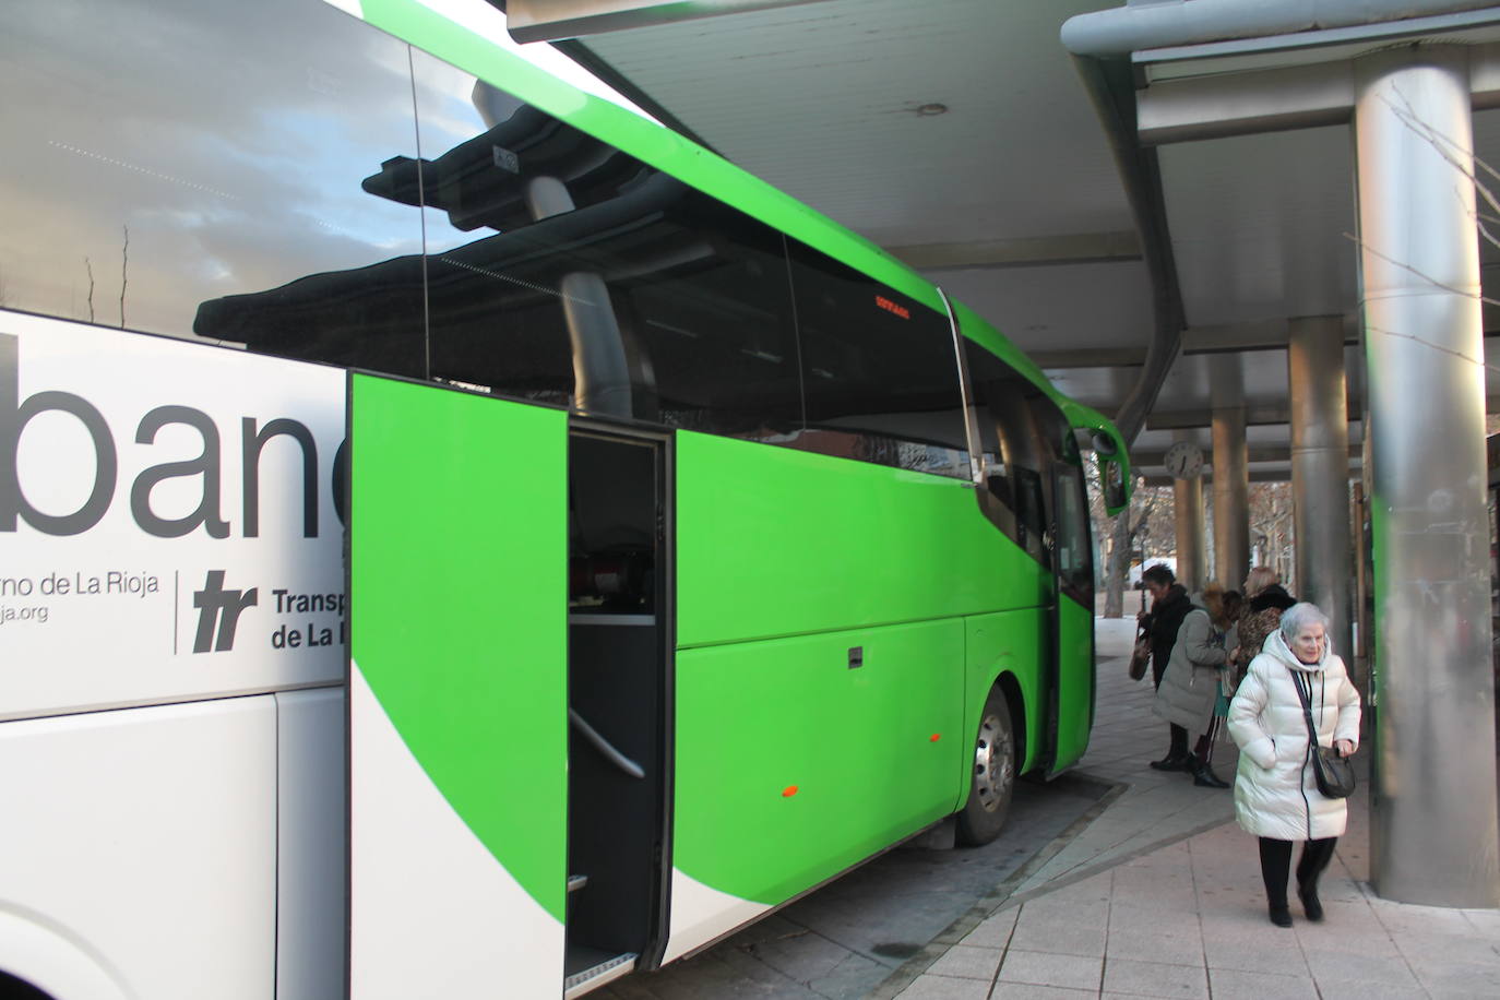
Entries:
[[578,996],[1086,750],[1116,429],[483,0],[0,13],[0,993]]

